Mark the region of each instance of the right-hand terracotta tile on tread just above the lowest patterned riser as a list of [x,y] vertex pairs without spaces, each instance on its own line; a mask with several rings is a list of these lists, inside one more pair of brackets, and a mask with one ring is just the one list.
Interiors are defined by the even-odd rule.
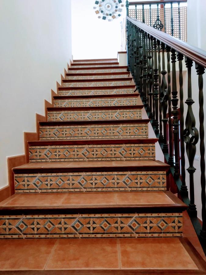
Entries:
[[174,204],[164,192],[117,193],[117,204]]

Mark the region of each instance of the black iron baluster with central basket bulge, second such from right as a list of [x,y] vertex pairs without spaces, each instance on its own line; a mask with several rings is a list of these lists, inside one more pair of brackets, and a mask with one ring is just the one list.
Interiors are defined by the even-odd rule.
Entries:
[[165,44],[161,43],[161,49],[162,49],[162,84],[161,84],[161,94],[160,94],[160,101],[161,101],[161,108],[163,112],[163,132],[164,132],[164,138],[163,138],[163,147],[162,151],[163,153],[168,153],[168,144],[167,144],[167,107],[168,107],[168,90],[167,90],[167,82],[165,75],[167,74],[167,71],[165,70],[165,59],[164,59],[164,50],[165,50]]

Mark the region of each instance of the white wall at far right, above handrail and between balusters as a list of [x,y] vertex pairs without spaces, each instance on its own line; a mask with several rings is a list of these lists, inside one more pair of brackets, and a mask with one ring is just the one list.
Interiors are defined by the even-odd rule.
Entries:
[[[187,0],[187,42],[193,46],[206,50],[206,1],[205,0]],[[204,74],[204,130],[205,130],[205,146],[206,146],[206,75]],[[199,99],[198,99],[198,76],[195,70],[195,64],[192,67],[192,96],[195,103],[193,104],[193,113],[196,119],[196,127],[199,130]],[[187,91],[184,92],[184,101],[187,98]],[[184,117],[186,118],[186,109],[184,110]],[[196,155],[200,157],[200,141],[197,143]],[[206,154],[205,154],[206,159]],[[186,168],[189,163],[186,157]],[[194,190],[195,190],[195,204],[197,206],[197,215],[201,218],[201,170],[200,160],[194,160],[194,167],[197,169],[194,173]],[[189,187],[189,175],[186,171],[186,184]]]

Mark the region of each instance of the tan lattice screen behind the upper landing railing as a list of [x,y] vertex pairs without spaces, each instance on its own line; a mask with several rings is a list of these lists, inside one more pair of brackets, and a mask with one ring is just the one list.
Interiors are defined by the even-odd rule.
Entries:
[[[164,23],[164,9],[159,9],[160,20],[166,26],[166,33],[171,35],[171,8],[165,8]],[[178,8],[172,8],[173,11],[173,25],[174,25],[174,37],[179,38],[179,12]],[[136,18],[135,9],[129,9],[129,16]],[[150,9],[144,10],[145,24],[150,26]],[[142,21],[142,9],[137,9],[137,20]],[[153,26],[157,20],[157,9],[151,9],[151,25]],[[164,29],[163,29],[164,31]],[[180,34],[181,40],[187,42],[187,7],[180,7]]]

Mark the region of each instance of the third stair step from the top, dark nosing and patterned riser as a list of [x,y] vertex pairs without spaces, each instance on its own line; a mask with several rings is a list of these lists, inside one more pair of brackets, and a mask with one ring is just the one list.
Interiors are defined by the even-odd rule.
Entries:
[[70,74],[76,74],[76,73],[100,73],[100,72],[120,72],[120,71],[127,71],[127,66],[101,66],[101,67],[81,67],[81,68],[75,68],[73,66],[72,68],[68,69],[68,73]]

